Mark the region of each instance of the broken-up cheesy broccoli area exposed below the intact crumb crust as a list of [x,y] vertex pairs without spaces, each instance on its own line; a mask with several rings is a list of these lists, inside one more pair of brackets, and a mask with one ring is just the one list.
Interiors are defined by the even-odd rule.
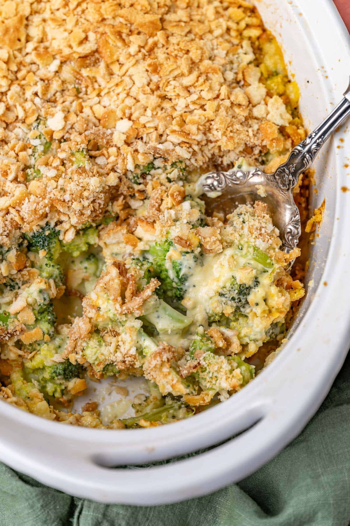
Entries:
[[[96,411],[69,413],[86,376],[144,376],[152,393],[135,417],[108,426],[138,427],[191,416],[254,378],[247,358],[278,345],[304,294],[285,271],[298,249],[279,249],[264,203],[221,220],[205,215],[194,188],[159,186],[129,220],[88,227],[71,243],[49,224],[26,235],[30,267],[1,284],[4,398],[103,427]],[[81,310],[57,323],[64,291]]]

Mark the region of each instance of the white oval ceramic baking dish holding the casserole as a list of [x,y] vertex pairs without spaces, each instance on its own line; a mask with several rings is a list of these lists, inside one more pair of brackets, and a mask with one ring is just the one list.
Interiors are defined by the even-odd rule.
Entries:
[[[341,99],[350,73],[350,42],[331,0],[266,0],[258,8],[283,44],[314,127]],[[350,124],[350,123],[349,123]],[[67,493],[102,502],[161,504],[214,491],[252,473],[286,446],[314,414],[341,368],[350,343],[345,294],[350,262],[350,154],[346,125],[316,165],[326,213],[312,249],[306,299],[289,341],[271,366],[227,402],[168,426],[95,430],[65,426],[0,404],[0,459]],[[339,143],[339,138],[344,142]],[[336,148],[341,146],[341,148]],[[325,282],[327,285],[325,285]],[[144,464],[214,446],[153,468]]]

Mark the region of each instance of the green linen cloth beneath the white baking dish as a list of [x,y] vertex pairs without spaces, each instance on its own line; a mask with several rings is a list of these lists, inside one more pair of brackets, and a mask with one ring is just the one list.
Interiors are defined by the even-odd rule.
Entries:
[[[311,378],[312,381],[312,378]],[[347,526],[350,355],[304,431],[256,473],[198,499],[155,507],[71,497],[0,464],[0,526]]]

